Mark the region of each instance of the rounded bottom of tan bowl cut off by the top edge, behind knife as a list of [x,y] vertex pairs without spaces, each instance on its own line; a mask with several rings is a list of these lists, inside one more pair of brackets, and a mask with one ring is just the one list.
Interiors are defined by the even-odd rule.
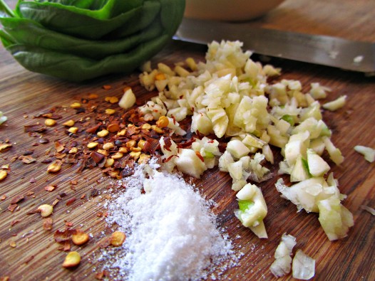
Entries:
[[247,21],[267,14],[284,0],[186,0],[187,18]]

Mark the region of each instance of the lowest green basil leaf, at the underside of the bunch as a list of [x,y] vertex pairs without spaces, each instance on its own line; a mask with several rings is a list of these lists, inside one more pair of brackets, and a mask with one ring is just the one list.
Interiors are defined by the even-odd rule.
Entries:
[[6,49],[28,70],[78,82],[113,73],[129,74],[158,53],[169,39],[164,34],[140,44],[128,53],[110,55],[102,60],[20,44]]

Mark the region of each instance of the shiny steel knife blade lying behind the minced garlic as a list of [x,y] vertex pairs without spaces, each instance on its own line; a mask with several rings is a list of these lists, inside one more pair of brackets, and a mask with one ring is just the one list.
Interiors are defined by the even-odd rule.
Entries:
[[200,44],[238,40],[243,48],[259,55],[375,75],[375,43],[195,18],[183,18],[173,38]]

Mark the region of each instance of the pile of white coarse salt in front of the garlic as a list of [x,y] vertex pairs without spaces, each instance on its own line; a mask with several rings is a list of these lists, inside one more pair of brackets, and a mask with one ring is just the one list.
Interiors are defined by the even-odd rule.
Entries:
[[127,238],[121,248],[103,250],[104,269],[118,272],[118,280],[215,280],[240,254],[217,227],[210,203],[157,168],[153,161],[138,166],[120,181],[123,193],[106,203],[107,222]]

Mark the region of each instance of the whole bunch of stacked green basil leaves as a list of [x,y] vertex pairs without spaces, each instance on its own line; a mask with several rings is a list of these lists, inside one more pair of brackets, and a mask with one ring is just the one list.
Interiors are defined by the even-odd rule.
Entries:
[[24,68],[83,81],[131,73],[158,53],[185,0],[0,0],[0,38]]

